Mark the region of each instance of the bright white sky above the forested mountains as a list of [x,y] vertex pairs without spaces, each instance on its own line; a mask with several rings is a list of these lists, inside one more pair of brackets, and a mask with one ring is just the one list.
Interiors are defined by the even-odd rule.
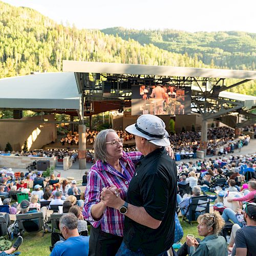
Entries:
[[175,29],[256,33],[255,0],[2,0],[77,28]]

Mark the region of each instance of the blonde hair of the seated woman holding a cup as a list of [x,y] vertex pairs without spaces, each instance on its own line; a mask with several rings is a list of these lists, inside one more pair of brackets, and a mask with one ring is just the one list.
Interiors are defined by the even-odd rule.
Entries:
[[197,219],[198,223],[203,223],[209,229],[212,227],[212,232],[218,234],[225,225],[225,221],[221,217],[219,211],[214,211],[212,214],[200,215]]

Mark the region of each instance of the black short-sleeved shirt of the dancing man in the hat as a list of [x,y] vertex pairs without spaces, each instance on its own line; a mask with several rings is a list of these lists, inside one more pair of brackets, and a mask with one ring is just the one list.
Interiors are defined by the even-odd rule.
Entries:
[[125,216],[126,246],[145,255],[157,255],[174,243],[177,194],[177,168],[164,147],[142,157],[130,182],[126,202],[142,206],[154,219],[162,223],[157,229],[141,225]]

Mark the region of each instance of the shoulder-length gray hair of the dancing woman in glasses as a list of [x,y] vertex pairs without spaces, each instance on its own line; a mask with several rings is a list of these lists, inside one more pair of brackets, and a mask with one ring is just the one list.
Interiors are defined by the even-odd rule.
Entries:
[[101,160],[107,162],[107,158],[110,158],[108,152],[106,152],[106,135],[109,133],[116,133],[113,129],[105,129],[100,131],[94,141],[94,158],[95,160]]

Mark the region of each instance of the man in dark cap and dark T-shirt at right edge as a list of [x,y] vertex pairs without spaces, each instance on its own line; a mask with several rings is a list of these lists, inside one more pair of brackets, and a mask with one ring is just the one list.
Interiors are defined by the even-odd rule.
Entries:
[[256,252],[256,203],[246,203],[244,219],[247,226],[237,230],[232,255],[252,256]]

